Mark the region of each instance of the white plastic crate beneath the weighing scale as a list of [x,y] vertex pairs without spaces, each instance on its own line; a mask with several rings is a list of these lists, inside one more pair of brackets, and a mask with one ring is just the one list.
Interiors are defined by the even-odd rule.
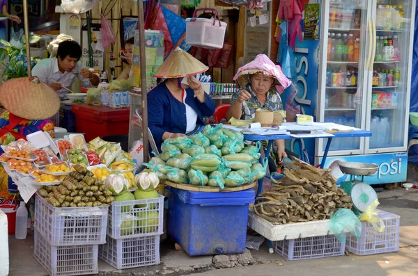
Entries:
[[394,213],[378,210],[385,223],[385,232],[374,229],[370,222],[362,222],[362,235],[357,238],[347,234],[346,248],[357,255],[370,255],[399,251],[399,223],[401,218]]

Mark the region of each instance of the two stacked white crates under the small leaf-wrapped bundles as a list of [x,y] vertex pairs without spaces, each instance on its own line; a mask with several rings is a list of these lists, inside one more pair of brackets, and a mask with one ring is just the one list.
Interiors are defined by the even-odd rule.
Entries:
[[96,274],[109,206],[56,208],[36,195],[33,257],[52,276]]

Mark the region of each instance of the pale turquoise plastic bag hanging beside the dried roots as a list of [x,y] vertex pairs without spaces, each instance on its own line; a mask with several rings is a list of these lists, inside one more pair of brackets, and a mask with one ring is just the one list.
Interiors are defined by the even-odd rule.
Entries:
[[360,237],[362,222],[350,209],[340,208],[330,218],[330,230],[341,243],[344,243],[346,233],[351,233],[357,238]]

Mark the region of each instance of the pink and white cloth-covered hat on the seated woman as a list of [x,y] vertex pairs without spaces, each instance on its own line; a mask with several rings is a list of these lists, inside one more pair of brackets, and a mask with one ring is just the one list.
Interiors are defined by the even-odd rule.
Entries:
[[257,55],[253,61],[240,67],[237,74],[233,77],[233,80],[236,81],[240,76],[251,74],[264,74],[265,76],[271,76],[274,78],[276,84],[281,84],[284,88],[287,88],[292,83],[283,74],[283,72],[281,72],[280,65],[275,65],[272,60],[264,54]]

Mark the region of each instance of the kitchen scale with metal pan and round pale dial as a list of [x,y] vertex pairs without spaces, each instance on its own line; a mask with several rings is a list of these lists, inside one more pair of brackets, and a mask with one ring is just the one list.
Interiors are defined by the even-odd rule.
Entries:
[[[372,202],[378,199],[378,195],[369,184],[364,182],[364,177],[373,175],[378,171],[378,165],[370,163],[357,163],[357,162],[341,162],[339,163],[341,172],[350,174],[350,181],[344,181],[341,183],[341,188],[347,195],[351,196],[353,202],[353,212],[359,216],[366,207]],[[357,180],[357,177],[361,177],[361,181]]]

